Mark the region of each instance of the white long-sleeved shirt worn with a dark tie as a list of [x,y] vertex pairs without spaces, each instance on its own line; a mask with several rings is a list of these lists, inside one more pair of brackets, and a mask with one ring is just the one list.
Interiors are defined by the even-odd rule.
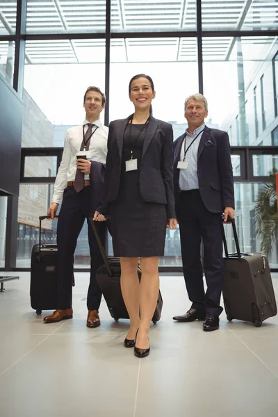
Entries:
[[[81,126],[74,126],[65,133],[64,151],[62,161],[58,169],[56,181],[54,183],[53,203],[58,203],[63,199],[63,193],[67,186],[67,181],[74,181],[76,174],[76,154],[80,151],[84,133],[88,130],[88,120],[84,120]],[[97,130],[90,139],[87,159],[106,163],[108,127],[101,124],[100,120],[94,122]],[[95,128],[93,128],[94,131]],[[85,179],[89,176],[85,175]]]

